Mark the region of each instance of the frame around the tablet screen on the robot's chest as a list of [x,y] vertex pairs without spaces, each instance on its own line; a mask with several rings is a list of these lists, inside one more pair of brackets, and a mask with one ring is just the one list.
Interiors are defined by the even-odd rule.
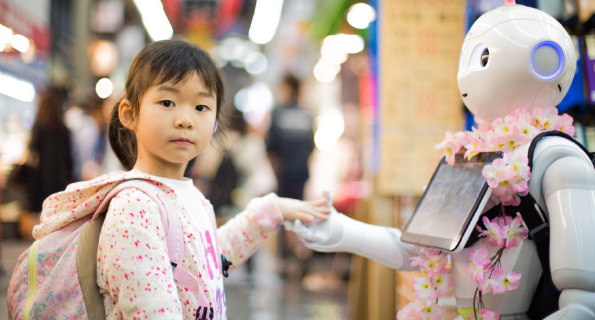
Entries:
[[[487,153],[480,153],[479,155],[474,157],[471,161],[467,161],[467,160],[464,160],[463,155],[457,154],[455,156],[455,165],[454,166],[465,164],[465,163],[477,163],[479,166],[483,167],[486,164],[490,164],[490,163],[492,163],[492,161],[494,161],[498,158],[501,158],[501,157],[502,157],[501,152],[487,152]],[[438,169],[442,165],[448,165],[445,158],[442,158],[440,160],[440,163],[438,163],[438,166],[436,167],[436,170],[434,171],[434,174],[432,175],[432,179],[430,179],[430,183],[428,184],[428,187],[424,191],[423,195],[421,196],[421,198],[419,199],[419,202],[417,203],[417,205],[415,207],[415,211],[413,212],[413,215],[407,222],[407,225],[405,225],[405,228],[403,228],[403,234],[401,236],[401,240],[403,242],[407,242],[407,243],[414,244],[417,246],[429,247],[429,248],[439,249],[442,251],[460,252],[465,247],[465,244],[467,243],[469,236],[471,236],[473,229],[475,229],[475,225],[477,225],[477,221],[479,220],[479,217],[483,213],[483,209],[485,208],[488,200],[490,199],[490,196],[492,195],[492,189],[489,188],[487,179],[485,179],[485,182],[483,183],[483,186],[481,188],[479,196],[475,199],[475,201],[473,203],[472,209],[470,210],[470,212],[467,213],[467,217],[465,218],[465,222],[463,224],[465,227],[462,229],[462,231],[459,231],[458,235],[455,236],[454,239],[433,237],[433,236],[429,236],[429,235],[412,233],[412,232],[408,231],[408,228],[409,228],[411,222],[413,221],[413,218],[418,213],[418,210],[419,210],[424,198],[426,197],[428,190],[430,190],[430,187],[431,187],[432,183],[434,182],[434,179],[436,178]]]

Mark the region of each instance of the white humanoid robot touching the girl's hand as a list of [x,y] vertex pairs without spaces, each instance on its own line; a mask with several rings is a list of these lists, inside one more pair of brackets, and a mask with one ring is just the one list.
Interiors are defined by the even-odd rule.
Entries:
[[[488,121],[519,107],[555,106],[570,87],[576,61],[574,45],[558,21],[542,11],[507,4],[481,16],[469,30],[461,50],[459,90],[475,116]],[[568,138],[551,136],[535,143],[529,192],[549,219],[550,268],[545,270],[550,269],[561,290],[559,309],[546,319],[595,319],[595,169]],[[408,258],[417,253],[401,241],[399,229],[365,224],[336,211],[325,222],[297,222],[291,228],[314,250],[350,252],[413,270]],[[471,248],[478,246],[486,245],[477,241],[451,252],[457,308],[473,307],[477,284],[464,269]],[[545,276],[534,241],[506,250],[502,263],[522,274],[520,286],[484,295],[485,306],[501,319],[529,319],[531,301],[542,290],[537,289],[540,276]]]

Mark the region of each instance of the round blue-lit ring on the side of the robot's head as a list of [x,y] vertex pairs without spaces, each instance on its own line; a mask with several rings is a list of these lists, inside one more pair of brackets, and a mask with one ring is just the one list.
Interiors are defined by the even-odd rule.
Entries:
[[558,77],[564,69],[565,62],[564,51],[562,51],[560,45],[553,41],[538,43],[531,51],[531,57],[529,58],[531,71],[544,81],[550,81]]

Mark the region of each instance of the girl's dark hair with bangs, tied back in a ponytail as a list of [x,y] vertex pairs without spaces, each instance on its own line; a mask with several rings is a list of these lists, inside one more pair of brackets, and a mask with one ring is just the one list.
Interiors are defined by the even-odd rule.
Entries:
[[[126,80],[126,99],[130,101],[133,117],[138,117],[140,101],[147,90],[155,85],[172,81],[174,84],[193,73],[198,74],[205,87],[217,98],[217,131],[213,138],[222,146],[223,80],[219,68],[201,48],[183,40],[157,41],[146,46],[132,61]],[[134,131],[122,125],[118,102],[108,122],[109,142],[120,163],[131,170],[136,163],[137,144]]]

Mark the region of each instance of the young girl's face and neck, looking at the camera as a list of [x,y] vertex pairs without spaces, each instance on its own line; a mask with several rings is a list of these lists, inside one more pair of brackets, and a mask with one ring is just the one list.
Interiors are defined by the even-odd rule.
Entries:
[[150,87],[140,101],[134,123],[138,145],[134,167],[149,174],[181,178],[188,161],[211,141],[216,115],[216,96],[196,73],[176,84]]

